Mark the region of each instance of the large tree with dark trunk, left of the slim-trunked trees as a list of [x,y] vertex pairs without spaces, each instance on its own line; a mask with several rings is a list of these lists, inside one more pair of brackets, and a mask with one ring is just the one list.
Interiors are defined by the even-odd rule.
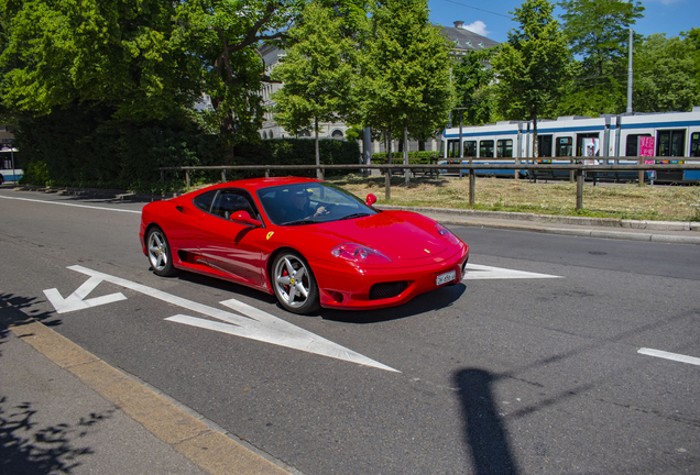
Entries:
[[260,139],[265,65],[256,47],[286,37],[298,12],[296,0],[187,0],[178,7],[200,90],[211,98],[210,120],[230,154],[237,143]]

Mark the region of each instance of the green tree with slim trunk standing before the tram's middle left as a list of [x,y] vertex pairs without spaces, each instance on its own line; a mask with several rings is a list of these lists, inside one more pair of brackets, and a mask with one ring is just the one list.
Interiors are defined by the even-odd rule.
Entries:
[[535,156],[537,119],[554,110],[570,74],[569,48],[551,11],[547,0],[526,0],[515,9],[519,29],[508,32],[507,43],[493,58],[500,107],[505,117],[533,122]]

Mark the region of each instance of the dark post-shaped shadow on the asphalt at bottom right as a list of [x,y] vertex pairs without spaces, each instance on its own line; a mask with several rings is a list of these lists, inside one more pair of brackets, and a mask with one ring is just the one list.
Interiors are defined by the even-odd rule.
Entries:
[[517,475],[508,438],[493,400],[491,384],[497,379],[482,369],[462,369],[453,380],[464,421],[463,435],[477,475]]

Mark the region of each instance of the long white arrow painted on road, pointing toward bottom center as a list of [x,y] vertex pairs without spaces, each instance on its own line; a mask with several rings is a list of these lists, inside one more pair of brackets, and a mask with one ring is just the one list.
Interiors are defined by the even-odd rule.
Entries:
[[336,360],[343,360],[364,366],[372,366],[379,369],[401,373],[397,369],[394,369],[374,360],[370,360],[369,357],[363,356],[360,353],[353,352],[352,350],[333,343],[330,340],[326,340],[307,330],[293,325],[285,320],[278,319],[270,313],[266,313],[262,310],[259,310],[234,299],[226,300],[221,303],[232,310],[236,310],[237,312],[242,313],[242,316],[209,307],[203,303],[197,303],[182,297],[146,287],[141,284],[132,283],[120,277],[110,276],[109,274],[102,274],[97,270],[91,270],[83,266],[70,266],[68,268],[91,276],[90,280],[96,279],[98,284],[102,280],[109,281],[111,284],[118,285],[120,287],[125,287],[130,290],[144,294],[149,297],[156,298],[167,303],[183,307],[187,310],[195,311],[215,318],[217,320],[221,320],[226,323],[188,317],[184,314],[177,314],[166,318],[165,320],[168,321],[208,330],[215,330],[222,333],[247,338],[250,340],[256,340],[264,343],[271,343],[278,346],[285,346],[293,350],[299,350],[307,353],[328,356]]

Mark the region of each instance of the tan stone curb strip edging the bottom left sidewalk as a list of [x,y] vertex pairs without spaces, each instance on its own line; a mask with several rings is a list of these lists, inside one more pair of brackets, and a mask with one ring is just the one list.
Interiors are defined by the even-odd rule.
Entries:
[[[98,358],[45,324],[0,300],[7,328],[62,369],[97,391],[176,452],[212,475],[288,474],[287,468],[212,429],[204,418],[167,400],[130,375]],[[8,314],[7,311],[12,314]]]

